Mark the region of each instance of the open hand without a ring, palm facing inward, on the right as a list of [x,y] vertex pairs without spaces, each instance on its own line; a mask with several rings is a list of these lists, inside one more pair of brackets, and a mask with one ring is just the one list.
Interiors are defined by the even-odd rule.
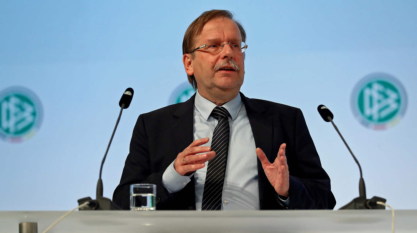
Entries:
[[261,160],[266,178],[268,178],[271,185],[275,188],[276,193],[284,197],[289,197],[289,171],[285,156],[285,146],[285,143],[282,143],[279,147],[278,155],[274,163],[269,163],[261,148],[256,148],[256,155]]

